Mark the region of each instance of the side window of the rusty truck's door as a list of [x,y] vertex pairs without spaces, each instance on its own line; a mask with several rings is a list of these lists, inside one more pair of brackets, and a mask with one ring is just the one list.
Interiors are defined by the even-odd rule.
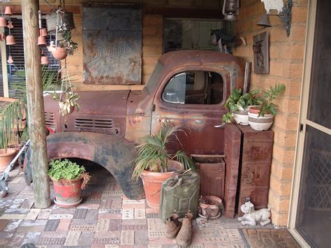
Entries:
[[219,104],[223,100],[223,78],[210,71],[186,71],[165,85],[162,98],[168,103]]

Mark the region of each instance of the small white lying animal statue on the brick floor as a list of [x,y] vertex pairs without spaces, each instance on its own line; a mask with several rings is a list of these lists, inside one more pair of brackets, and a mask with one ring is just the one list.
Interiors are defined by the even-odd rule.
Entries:
[[243,217],[239,217],[238,221],[242,222],[242,225],[256,226],[260,224],[265,226],[271,222],[270,220],[270,208],[263,208],[260,210],[254,210],[254,205],[250,201],[244,203],[240,209],[244,213]]

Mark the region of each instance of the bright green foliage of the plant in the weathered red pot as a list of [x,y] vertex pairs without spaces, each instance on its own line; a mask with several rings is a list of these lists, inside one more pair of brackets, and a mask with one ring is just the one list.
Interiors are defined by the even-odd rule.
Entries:
[[48,175],[54,181],[70,181],[82,178],[82,189],[87,187],[87,182],[89,182],[90,175],[86,172],[84,166],[79,166],[77,163],[72,162],[68,159],[57,159],[50,161],[50,169],[48,170]]

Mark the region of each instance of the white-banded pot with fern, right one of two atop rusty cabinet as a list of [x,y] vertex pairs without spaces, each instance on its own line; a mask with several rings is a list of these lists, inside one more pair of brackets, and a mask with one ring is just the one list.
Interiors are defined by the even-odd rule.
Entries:
[[281,84],[263,92],[262,103],[249,109],[249,125],[252,129],[256,131],[270,129],[274,123],[274,116],[277,115],[277,105],[273,101],[285,90],[285,85]]

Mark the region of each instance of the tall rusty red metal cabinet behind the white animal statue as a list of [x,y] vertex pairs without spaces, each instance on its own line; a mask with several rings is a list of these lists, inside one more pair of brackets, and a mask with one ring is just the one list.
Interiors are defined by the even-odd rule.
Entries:
[[242,133],[240,156],[240,205],[250,198],[256,209],[267,207],[274,132],[254,131],[250,126],[237,128]]

